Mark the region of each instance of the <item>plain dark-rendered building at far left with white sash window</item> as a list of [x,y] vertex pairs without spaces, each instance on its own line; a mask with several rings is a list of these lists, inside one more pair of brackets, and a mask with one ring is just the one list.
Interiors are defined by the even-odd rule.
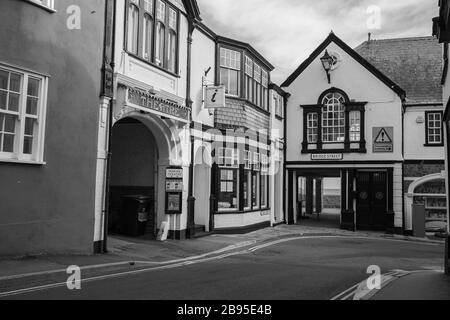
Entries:
[[105,3],[0,2],[2,256],[92,253]]

